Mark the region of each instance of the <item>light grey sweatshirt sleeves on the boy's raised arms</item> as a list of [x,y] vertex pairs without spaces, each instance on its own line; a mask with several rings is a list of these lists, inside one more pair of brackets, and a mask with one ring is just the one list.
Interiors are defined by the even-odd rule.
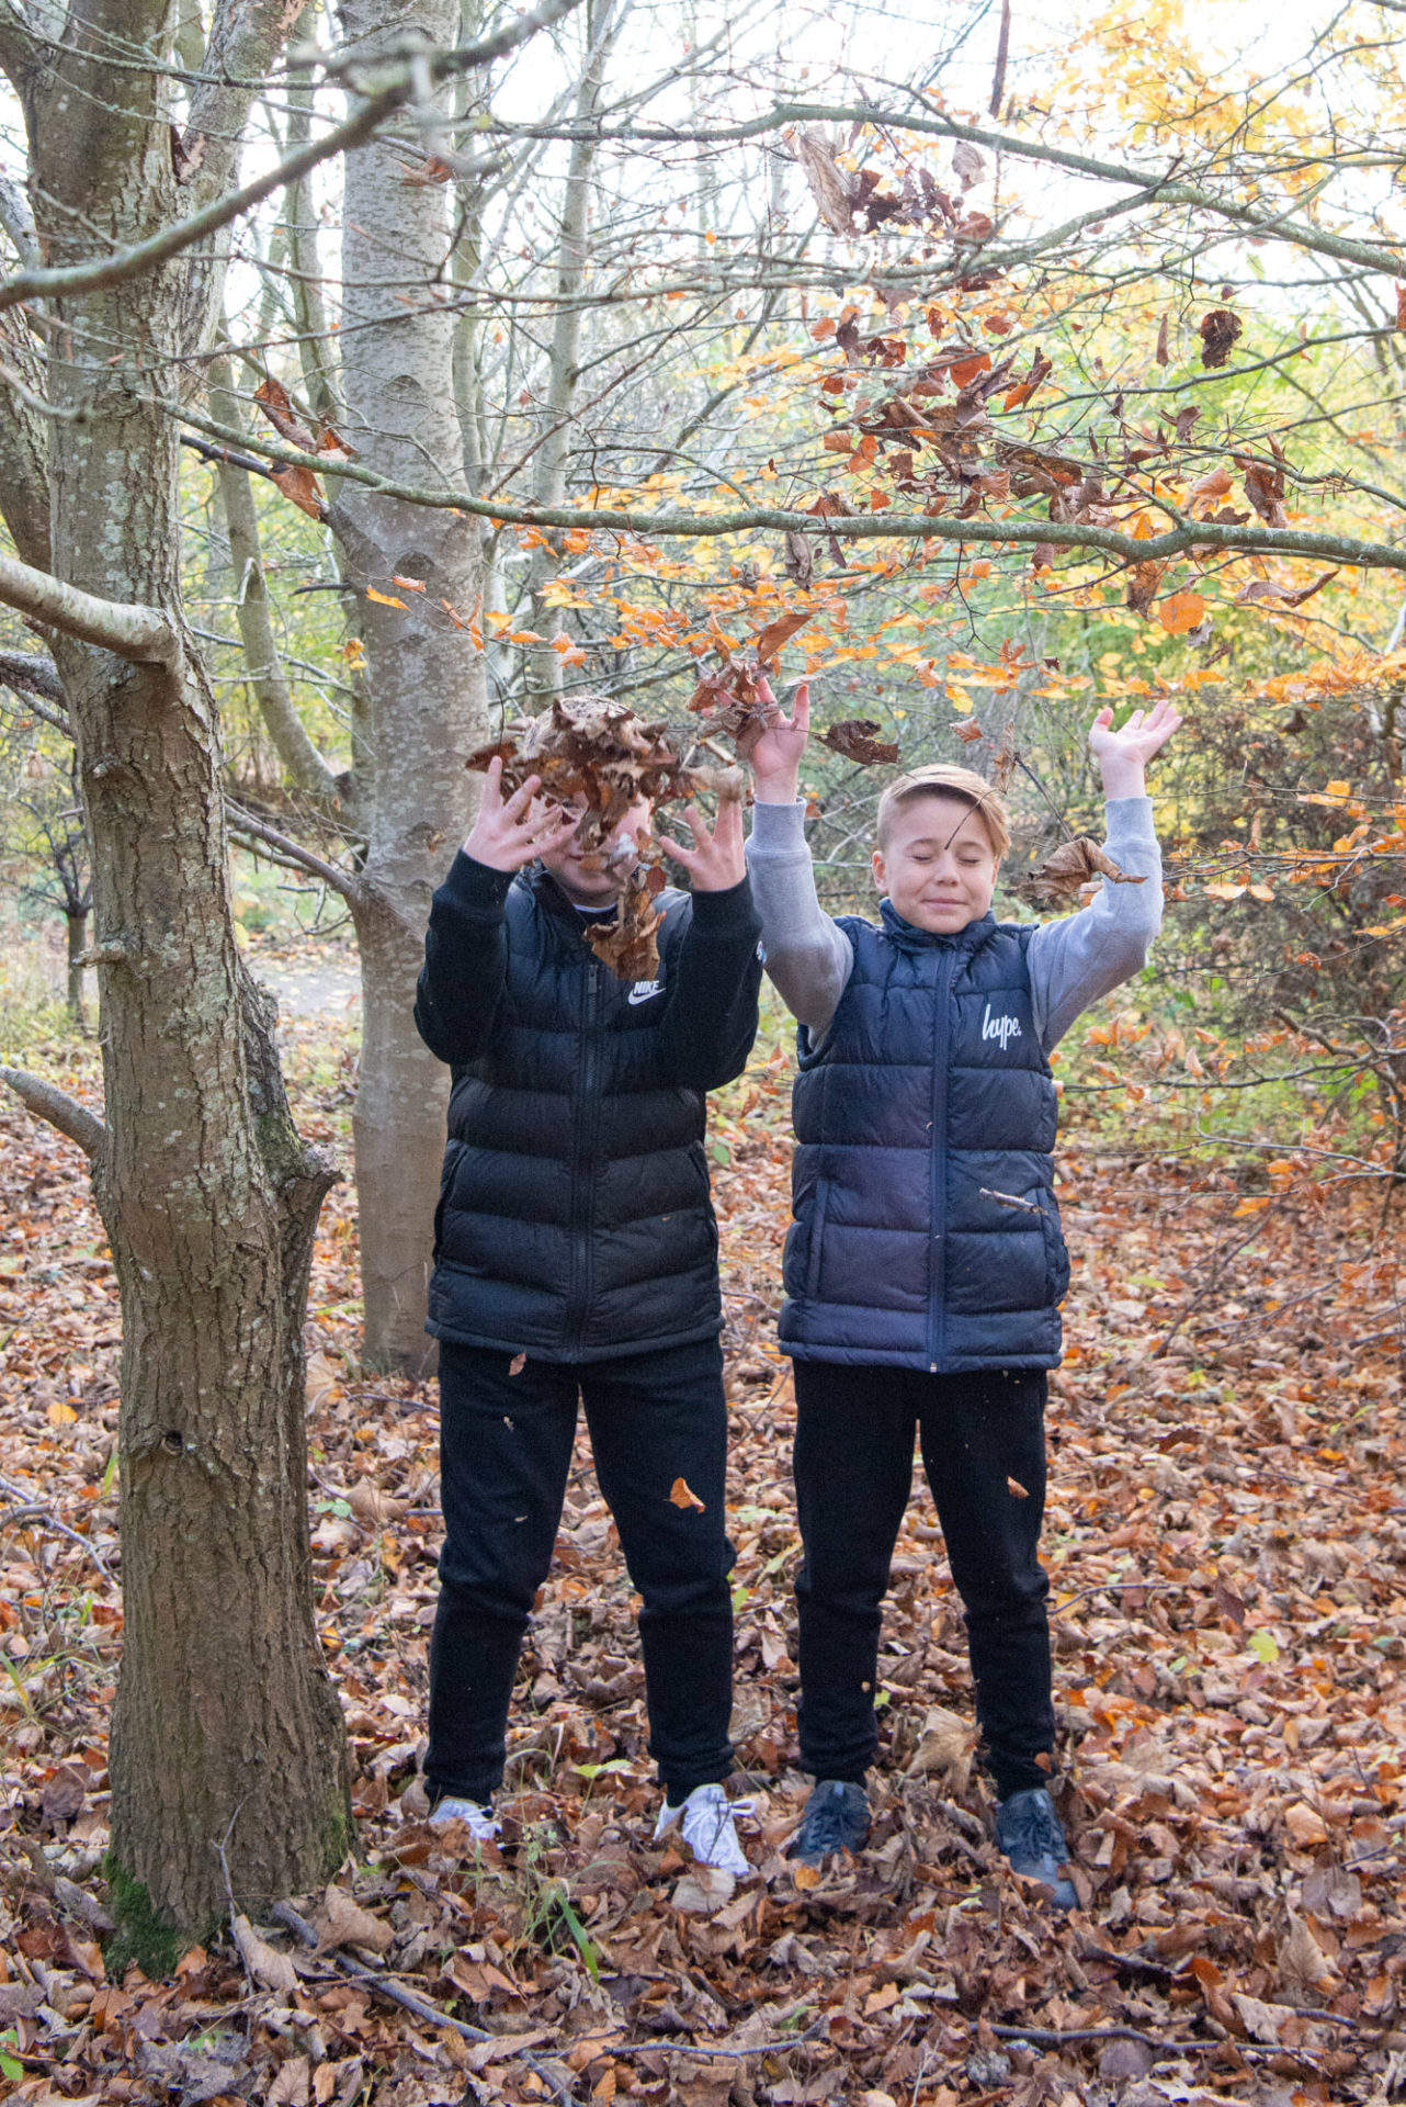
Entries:
[[[1147,883],[1113,885],[1105,879],[1078,914],[1036,929],[1029,982],[1046,1054],[1082,1009],[1141,971],[1162,927],[1162,851],[1151,826],[1151,799],[1109,799],[1103,809],[1109,855],[1128,877],[1145,877]],[[754,807],[747,870],[762,917],[766,971],[815,1043],[840,1007],[855,952],[817,898],[804,811],[800,801]]]

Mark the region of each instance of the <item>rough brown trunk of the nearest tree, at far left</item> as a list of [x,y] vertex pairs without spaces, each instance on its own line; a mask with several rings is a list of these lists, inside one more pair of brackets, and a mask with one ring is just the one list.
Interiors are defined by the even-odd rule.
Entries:
[[[173,32],[164,0],[109,0],[15,67],[51,261],[179,213],[164,84],[103,63],[114,40],[160,57]],[[84,415],[57,424],[46,470],[57,577],[168,626],[145,662],[61,630],[53,655],[93,847],[107,1094],[93,1171],[122,1294],[114,1896],[175,1936],[223,1915],[221,1848],[236,1896],[263,1903],[326,1877],[349,1837],[303,1435],[305,1285],[333,1174],[293,1129],[274,1007],[234,944],[219,727],[179,596],[168,411],[202,348],[206,276],[173,263],[51,308],[51,400]],[[34,491],[0,495],[8,516]]]

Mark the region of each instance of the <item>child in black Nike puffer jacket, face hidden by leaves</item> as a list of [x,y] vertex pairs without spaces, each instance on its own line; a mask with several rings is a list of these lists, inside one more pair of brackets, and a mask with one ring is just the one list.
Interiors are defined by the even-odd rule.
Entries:
[[[659,971],[621,982],[583,927],[615,910],[577,813],[501,796],[434,895],[415,1022],[453,1066],[429,1332],[440,1340],[444,1551],[429,1648],[431,1820],[497,1833],[503,1738],[585,1403],[596,1475],[644,1597],[650,1749],[695,1858],[745,1873],[732,1768],[732,1549],[705,1091],[741,1075],[758,933],[741,805],[671,847]],[[648,828],[636,805],[615,841]],[[528,868],[533,866],[533,868]],[[678,1479],[699,1504],[669,1498]]]

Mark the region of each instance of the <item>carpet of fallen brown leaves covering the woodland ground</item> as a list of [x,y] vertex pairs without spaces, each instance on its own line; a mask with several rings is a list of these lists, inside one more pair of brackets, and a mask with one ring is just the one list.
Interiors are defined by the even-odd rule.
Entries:
[[[431,2107],[1071,2107],[1406,2092],[1406,1504],[1395,1226],[1379,1188],[1280,1193],[1073,1127],[1052,1382],[1059,1799],[1086,1907],[987,1839],[960,1608],[926,1492],[892,1574],[869,1848],[798,1886],[787,1477],[772,1346],[787,1060],[720,1106],[735,1401],[737,1789],[756,1877],[650,1844],[634,1597],[579,1452],[524,1654],[505,1835],[425,1823],[434,1389],[356,1363],[352,1193],[309,1313],[316,1614],[360,1856],[170,1981],[109,1974],[120,1652],[118,1304],[78,1153],[0,1106],[0,2096]],[[91,1049],[29,1054],[95,1096]],[[345,1142],[354,1043],[295,1024],[307,1134]],[[1126,1140],[1126,1136],[1124,1136]],[[1404,2029],[1404,2031],[1398,2031]]]

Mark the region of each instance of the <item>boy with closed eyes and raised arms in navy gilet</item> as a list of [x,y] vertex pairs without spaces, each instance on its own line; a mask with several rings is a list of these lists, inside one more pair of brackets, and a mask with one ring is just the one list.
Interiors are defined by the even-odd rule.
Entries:
[[[796,1363],[804,1538],[800,1749],[817,1787],[794,1856],[869,1829],[880,1606],[913,1471],[932,1488],[966,1608],[996,1833],[1017,1873],[1076,1903],[1048,1795],[1054,1749],[1044,1511],[1046,1372],[1069,1262],[1054,1203],[1050,1047],[1137,973],[1162,919],[1145,763],[1181,723],[1160,702],[1090,746],[1111,885],[1052,923],[998,923],[1010,828],[968,769],[926,767],[878,811],[878,925],[819,906],[798,771],[808,695],[751,750],[747,864],[766,971],[800,1022],[796,1222],[781,1344]],[[1012,1492],[1023,1488],[1025,1498]]]

